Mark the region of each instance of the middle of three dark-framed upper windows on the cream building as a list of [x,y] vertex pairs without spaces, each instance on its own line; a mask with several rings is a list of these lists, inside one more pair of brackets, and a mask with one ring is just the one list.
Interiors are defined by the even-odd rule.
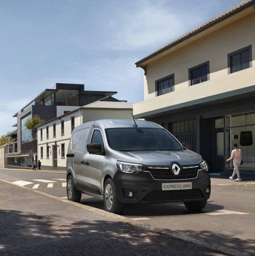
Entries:
[[189,72],[189,86],[194,84],[200,84],[210,80],[209,61],[197,65],[188,70]]

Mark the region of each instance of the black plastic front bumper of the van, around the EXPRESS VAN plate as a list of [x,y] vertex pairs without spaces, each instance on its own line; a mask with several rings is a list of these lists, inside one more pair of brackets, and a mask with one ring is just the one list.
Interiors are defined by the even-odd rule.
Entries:
[[[198,171],[194,179],[155,180],[149,172],[116,172],[113,181],[121,203],[170,203],[209,199],[211,181],[208,173]],[[192,189],[162,190],[162,183],[192,182]],[[206,189],[209,193],[206,193]]]

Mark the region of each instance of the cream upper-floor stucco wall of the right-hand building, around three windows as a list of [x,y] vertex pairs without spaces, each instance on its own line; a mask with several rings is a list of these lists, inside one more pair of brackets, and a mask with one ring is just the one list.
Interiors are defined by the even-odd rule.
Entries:
[[[145,101],[134,104],[134,114],[148,112],[201,97],[255,84],[255,10],[218,30],[172,50],[147,64],[144,76]],[[227,55],[252,45],[252,68],[228,75]],[[210,80],[189,86],[188,69],[209,61]],[[155,98],[155,81],[174,73],[175,91]]]

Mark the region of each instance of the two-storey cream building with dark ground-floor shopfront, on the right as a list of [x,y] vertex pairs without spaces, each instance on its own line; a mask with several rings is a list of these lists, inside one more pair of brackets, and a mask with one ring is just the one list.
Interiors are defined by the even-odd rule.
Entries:
[[134,116],[154,121],[208,161],[232,172],[233,143],[242,173],[255,170],[255,10],[246,0],[136,62],[144,101]]

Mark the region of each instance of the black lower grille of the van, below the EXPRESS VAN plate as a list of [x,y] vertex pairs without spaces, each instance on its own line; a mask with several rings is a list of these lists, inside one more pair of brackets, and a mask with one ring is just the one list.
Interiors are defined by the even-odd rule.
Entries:
[[144,201],[172,201],[185,199],[199,199],[203,194],[199,189],[183,189],[183,190],[154,190],[148,193]]

